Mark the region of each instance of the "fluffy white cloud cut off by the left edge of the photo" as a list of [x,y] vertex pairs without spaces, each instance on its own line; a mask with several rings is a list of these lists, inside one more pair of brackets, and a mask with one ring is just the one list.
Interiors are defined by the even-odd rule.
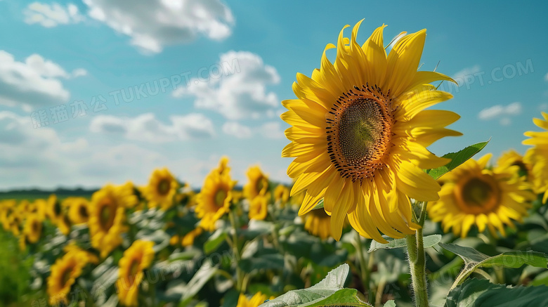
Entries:
[[86,75],[86,70],[63,70],[41,55],[30,55],[25,62],[18,62],[10,53],[0,50],[0,105],[21,106],[25,110],[34,107],[66,103],[69,92],[60,78]]

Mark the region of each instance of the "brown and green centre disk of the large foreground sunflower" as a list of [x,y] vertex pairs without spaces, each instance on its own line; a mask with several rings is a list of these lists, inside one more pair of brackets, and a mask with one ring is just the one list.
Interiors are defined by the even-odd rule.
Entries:
[[372,91],[349,91],[327,117],[327,151],[343,178],[353,182],[372,178],[385,164],[392,113],[386,98]]

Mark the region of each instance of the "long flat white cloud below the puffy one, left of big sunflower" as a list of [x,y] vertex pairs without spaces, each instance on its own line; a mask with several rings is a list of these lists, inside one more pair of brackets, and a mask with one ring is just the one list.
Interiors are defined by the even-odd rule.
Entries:
[[152,113],[133,118],[99,115],[93,118],[89,129],[95,133],[118,134],[129,140],[151,143],[211,138],[215,135],[213,122],[204,115],[174,115],[170,120],[170,124],[164,124]]

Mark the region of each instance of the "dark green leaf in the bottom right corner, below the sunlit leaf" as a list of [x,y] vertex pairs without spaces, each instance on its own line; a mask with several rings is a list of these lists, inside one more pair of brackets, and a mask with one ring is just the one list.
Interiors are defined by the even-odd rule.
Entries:
[[474,278],[449,292],[445,307],[548,306],[548,287],[508,287]]

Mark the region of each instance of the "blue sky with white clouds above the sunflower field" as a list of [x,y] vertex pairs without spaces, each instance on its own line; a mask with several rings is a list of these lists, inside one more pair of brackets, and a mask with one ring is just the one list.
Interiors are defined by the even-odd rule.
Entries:
[[254,164],[289,182],[280,101],[363,18],[358,42],[383,23],[386,44],[426,28],[421,70],[440,62],[460,81],[441,86],[455,98],[437,108],[462,116],[452,128],[464,136],[433,152],[492,137],[495,157],[523,153],[523,132],[548,111],[547,11],[511,1],[0,0],[0,190],[141,184],[163,166],[198,187],[222,155],[241,183]]

